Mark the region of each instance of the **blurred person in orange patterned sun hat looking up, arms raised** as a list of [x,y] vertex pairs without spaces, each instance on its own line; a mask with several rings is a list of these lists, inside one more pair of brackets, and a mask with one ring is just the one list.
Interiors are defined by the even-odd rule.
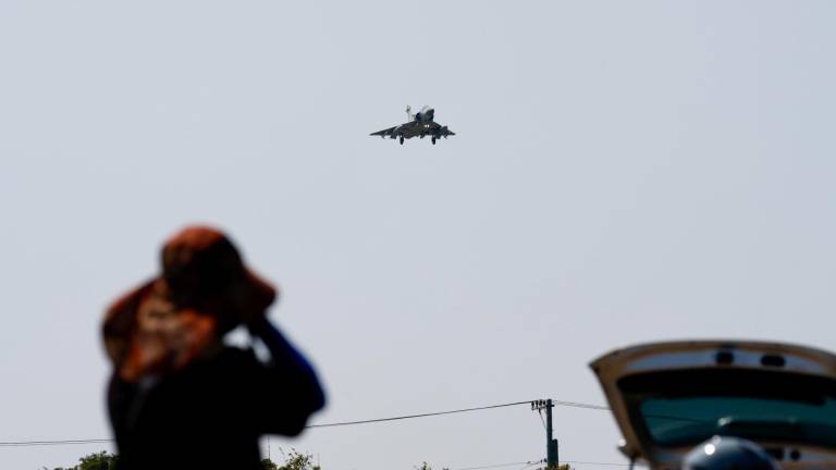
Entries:
[[[116,300],[102,327],[119,468],[255,470],[260,435],[302,432],[324,394],[268,321],[274,298],[220,232],[188,227],[165,243],[162,273]],[[268,363],[223,344],[242,324]]]

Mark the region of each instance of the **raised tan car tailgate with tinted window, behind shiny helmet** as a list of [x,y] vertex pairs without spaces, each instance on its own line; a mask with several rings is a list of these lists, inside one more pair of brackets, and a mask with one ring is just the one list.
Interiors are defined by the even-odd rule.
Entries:
[[754,441],[784,468],[836,468],[836,356],[776,343],[656,343],[590,364],[624,436],[622,450],[678,468],[713,435]]

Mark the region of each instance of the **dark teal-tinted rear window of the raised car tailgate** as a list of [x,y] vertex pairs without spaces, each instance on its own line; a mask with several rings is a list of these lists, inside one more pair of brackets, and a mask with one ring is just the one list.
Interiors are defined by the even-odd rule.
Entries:
[[661,446],[715,434],[836,446],[836,382],[786,371],[710,368],[618,382],[631,421]]

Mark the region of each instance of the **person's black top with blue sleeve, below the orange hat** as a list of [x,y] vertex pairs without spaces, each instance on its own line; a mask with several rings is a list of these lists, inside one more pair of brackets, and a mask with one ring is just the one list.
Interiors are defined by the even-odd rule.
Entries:
[[[159,380],[110,381],[119,469],[260,469],[262,434],[293,436],[324,405],[312,368],[271,329],[270,363],[224,347]],[[276,338],[278,336],[278,338]]]

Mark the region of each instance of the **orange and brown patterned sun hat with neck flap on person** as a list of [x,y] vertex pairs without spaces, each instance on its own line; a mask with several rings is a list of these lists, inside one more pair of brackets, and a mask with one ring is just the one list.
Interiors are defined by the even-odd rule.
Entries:
[[244,265],[221,232],[189,226],[162,247],[158,276],[107,310],[104,345],[120,375],[175,371],[263,316],[275,289]]

